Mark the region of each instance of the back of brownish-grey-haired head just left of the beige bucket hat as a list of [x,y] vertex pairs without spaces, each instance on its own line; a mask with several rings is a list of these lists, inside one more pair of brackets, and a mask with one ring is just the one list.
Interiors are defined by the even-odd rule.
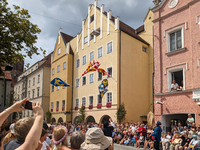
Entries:
[[81,132],[74,132],[70,138],[71,149],[72,150],[79,150],[81,144],[85,141],[85,136]]

